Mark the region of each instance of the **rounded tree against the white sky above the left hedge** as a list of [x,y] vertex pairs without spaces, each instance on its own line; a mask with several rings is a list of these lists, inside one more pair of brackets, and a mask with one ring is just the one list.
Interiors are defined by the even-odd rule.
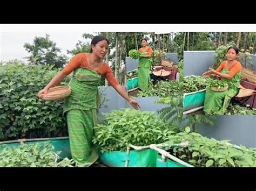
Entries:
[[56,43],[49,39],[49,34],[44,37],[36,37],[32,44],[25,43],[24,48],[31,53],[28,60],[31,65],[54,65],[55,67],[63,67],[68,58],[60,54],[60,48],[56,47]]

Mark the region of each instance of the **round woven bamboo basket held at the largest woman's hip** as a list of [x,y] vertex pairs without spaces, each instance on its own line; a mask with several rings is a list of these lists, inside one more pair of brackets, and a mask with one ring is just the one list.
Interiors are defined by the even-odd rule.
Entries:
[[68,97],[71,94],[70,86],[56,86],[50,88],[47,94],[43,95],[43,100],[46,101],[59,101],[64,100],[64,98]]

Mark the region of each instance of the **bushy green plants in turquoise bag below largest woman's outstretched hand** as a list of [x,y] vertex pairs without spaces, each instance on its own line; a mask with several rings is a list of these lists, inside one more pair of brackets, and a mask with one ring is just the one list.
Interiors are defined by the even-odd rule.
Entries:
[[128,144],[145,146],[166,141],[173,133],[169,123],[154,112],[126,108],[105,115],[105,122],[95,126],[93,143],[102,152],[124,151]]

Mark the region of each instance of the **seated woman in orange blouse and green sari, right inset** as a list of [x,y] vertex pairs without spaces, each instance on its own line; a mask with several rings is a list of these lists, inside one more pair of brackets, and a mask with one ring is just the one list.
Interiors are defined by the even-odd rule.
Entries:
[[238,94],[241,80],[241,63],[237,59],[239,49],[231,46],[227,49],[227,60],[221,62],[220,66],[214,70],[210,69],[203,75],[219,76],[221,80],[228,83],[225,91],[213,91],[206,88],[204,112],[205,114],[224,115],[231,98]]

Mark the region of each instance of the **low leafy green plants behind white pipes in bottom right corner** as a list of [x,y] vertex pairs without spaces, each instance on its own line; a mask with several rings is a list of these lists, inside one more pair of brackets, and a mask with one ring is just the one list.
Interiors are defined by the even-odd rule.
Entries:
[[199,133],[185,131],[170,136],[169,144],[188,141],[186,147],[172,147],[171,152],[176,157],[197,167],[242,167],[256,166],[255,148],[247,149],[240,145],[241,149],[228,145],[229,140],[218,142],[214,138],[201,136]]

